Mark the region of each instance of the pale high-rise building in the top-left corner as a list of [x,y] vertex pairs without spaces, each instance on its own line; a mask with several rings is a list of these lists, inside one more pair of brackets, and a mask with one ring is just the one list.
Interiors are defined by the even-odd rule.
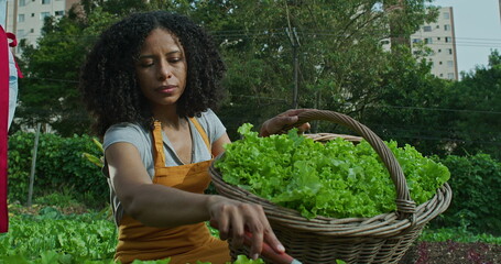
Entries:
[[[78,0],[8,0],[6,30],[15,34],[18,42],[26,40],[36,45],[46,16],[62,18]],[[18,47],[13,53],[20,53]]]

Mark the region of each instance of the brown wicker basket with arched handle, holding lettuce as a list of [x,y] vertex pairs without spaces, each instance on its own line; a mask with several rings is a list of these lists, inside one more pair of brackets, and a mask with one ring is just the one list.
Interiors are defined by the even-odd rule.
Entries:
[[[347,263],[397,263],[421,234],[424,226],[447,209],[451,199],[450,187],[445,184],[437,189],[437,194],[432,199],[416,207],[410,197],[400,164],[371,130],[348,116],[325,110],[303,112],[299,114],[298,123],[312,120],[327,120],[345,125],[371,144],[395,185],[396,211],[372,218],[335,219],[319,216],[308,220],[295,210],[274,205],[244,189],[226,184],[213,163],[210,175],[217,193],[236,200],[261,205],[286,252],[305,264],[336,263],[336,260]],[[315,140],[326,140],[326,138],[339,135],[309,136]],[[360,138],[355,136],[349,140],[357,142]],[[221,155],[216,157],[216,160],[219,158]],[[233,257],[249,252],[247,248],[232,246],[231,241],[230,250]],[[271,263],[268,260],[264,261]]]

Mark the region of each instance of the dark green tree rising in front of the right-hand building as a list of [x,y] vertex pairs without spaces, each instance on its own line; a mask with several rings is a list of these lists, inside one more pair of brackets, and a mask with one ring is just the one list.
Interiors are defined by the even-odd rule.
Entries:
[[383,140],[411,144],[424,154],[449,153],[453,119],[443,109],[453,82],[433,76],[431,64],[416,61],[409,47],[399,48],[400,56],[388,54],[388,70],[373,100],[363,106],[361,119]]

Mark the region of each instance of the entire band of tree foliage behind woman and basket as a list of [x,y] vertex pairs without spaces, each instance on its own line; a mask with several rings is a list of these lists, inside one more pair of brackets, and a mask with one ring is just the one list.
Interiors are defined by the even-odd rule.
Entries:
[[[298,107],[350,114],[384,140],[426,154],[483,151],[499,157],[499,53],[461,81],[432,76],[426,50],[416,58],[393,40],[435,20],[433,0],[399,2],[81,0],[81,8],[46,21],[36,46],[23,46],[28,77],[20,84],[15,123],[48,123],[63,135],[88,132],[76,89],[85,54],[110,23],[162,9],[190,16],[219,45],[228,73],[218,114],[233,140],[241,123],[259,125],[293,107],[297,85]],[[384,45],[390,40],[391,50]],[[314,122],[312,132],[335,130],[342,131]]]

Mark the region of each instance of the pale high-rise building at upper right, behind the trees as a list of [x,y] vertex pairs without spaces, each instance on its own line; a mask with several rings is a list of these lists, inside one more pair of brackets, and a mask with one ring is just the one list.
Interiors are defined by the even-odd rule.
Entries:
[[432,63],[433,75],[458,80],[453,8],[440,8],[439,12],[436,22],[422,25],[420,31],[411,35],[411,44],[413,50],[417,50],[417,44],[425,44],[432,50],[427,59]]

